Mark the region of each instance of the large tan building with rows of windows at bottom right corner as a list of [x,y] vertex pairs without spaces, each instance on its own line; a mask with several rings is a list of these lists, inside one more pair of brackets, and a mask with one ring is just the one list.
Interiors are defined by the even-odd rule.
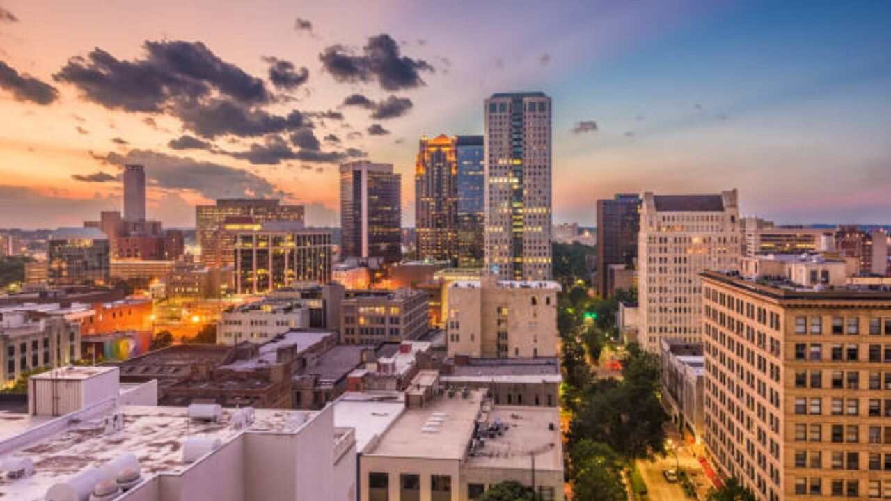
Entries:
[[762,500],[891,497],[891,292],[702,276],[718,469]]

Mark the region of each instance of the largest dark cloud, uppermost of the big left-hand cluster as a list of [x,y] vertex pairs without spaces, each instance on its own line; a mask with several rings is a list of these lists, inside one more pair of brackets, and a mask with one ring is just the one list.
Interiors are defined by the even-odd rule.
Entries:
[[160,112],[213,92],[241,103],[268,103],[263,80],[225,62],[200,42],[145,42],[147,57],[119,60],[100,48],[73,57],[53,75],[87,100],[124,111]]

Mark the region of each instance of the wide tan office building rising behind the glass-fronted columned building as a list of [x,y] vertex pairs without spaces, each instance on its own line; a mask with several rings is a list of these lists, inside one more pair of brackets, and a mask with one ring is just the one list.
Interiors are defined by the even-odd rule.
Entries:
[[232,232],[223,225],[226,218],[249,218],[250,223],[269,221],[303,222],[302,205],[282,205],[275,199],[219,199],[215,205],[195,207],[195,232],[201,248],[201,264],[208,267],[234,265]]

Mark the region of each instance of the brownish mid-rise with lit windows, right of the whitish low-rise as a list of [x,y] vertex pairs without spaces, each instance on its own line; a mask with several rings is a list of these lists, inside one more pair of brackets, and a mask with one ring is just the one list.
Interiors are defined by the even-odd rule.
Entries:
[[344,344],[417,340],[430,327],[427,292],[423,291],[347,291],[340,310],[340,342]]

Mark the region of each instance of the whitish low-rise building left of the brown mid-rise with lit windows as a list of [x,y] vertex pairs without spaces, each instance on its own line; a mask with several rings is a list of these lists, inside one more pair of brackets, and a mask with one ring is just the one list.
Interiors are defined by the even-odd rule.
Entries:
[[262,343],[293,329],[309,328],[309,311],[290,300],[260,300],[220,314],[217,343]]

